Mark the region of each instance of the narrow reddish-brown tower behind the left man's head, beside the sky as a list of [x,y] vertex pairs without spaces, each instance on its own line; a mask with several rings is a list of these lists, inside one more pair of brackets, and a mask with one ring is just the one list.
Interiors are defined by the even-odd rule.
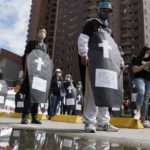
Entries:
[[45,27],[47,30],[45,42],[49,44],[49,50],[52,54],[55,45],[58,7],[59,0],[32,0],[29,20],[27,39],[35,40],[38,28]]

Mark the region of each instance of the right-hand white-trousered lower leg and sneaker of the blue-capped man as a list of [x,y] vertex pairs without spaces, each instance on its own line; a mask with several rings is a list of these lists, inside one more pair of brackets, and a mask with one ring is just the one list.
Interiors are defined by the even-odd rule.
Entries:
[[108,107],[98,107],[98,131],[109,131],[109,132],[117,132],[118,128],[112,126],[110,122],[110,114],[108,111]]

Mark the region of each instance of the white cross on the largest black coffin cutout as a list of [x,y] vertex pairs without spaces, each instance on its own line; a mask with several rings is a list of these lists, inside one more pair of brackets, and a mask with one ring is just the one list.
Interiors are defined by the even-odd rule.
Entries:
[[98,47],[103,48],[103,57],[109,58],[109,51],[112,50],[112,47],[109,45],[109,42],[106,40],[103,40],[103,43],[99,43]]

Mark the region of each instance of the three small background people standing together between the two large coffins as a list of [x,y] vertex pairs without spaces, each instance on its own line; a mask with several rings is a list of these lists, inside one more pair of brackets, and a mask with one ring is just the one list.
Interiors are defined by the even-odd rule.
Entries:
[[66,74],[57,68],[51,80],[48,116],[51,119],[58,114],[79,115],[82,113],[82,85],[75,84],[71,74]]

